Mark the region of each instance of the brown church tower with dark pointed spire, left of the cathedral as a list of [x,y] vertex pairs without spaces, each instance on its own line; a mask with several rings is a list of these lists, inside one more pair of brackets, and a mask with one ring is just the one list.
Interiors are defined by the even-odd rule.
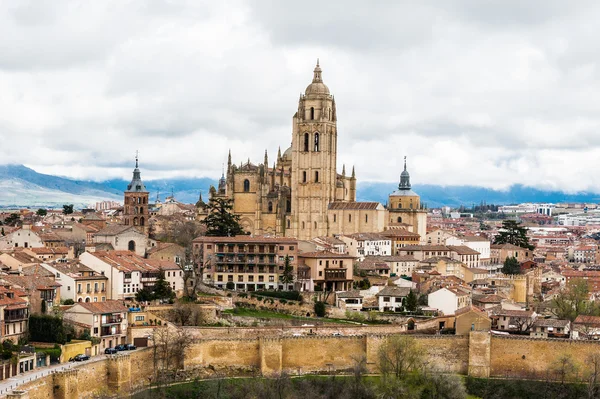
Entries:
[[125,190],[123,223],[126,226],[136,226],[144,234],[148,234],[148,194],[144,182],[142,182],[136,155],[133,178]]

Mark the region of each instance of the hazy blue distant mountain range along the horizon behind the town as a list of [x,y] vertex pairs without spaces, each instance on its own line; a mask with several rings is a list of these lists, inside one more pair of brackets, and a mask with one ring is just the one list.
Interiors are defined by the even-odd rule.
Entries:
[[[157,194],[161,201],[173,193],[178,201],[195,203],[202,192],[208,198],[211,185],[217,180],[210,178],[145,180],[150,200]],[[122,201],[128,181],[113,179],[102,183],[71,180],[63,177],[37,173],[23,165],[0,165],[0,207],[61,207],[74,204],[76,208],[89,206],[97,201]],[[358,184],[357,200],[387,202],[388,195],[396,190],[397,183],[364,182]],[[485,201],[487,204],[516,204],[522,202],[600,202],[600,194],[567,194],[560,191],[543,191],[514,185],[499,191],[475,186],[415,185],[413,190],[421,195],[421,201],[430,208],[440,206],[470,206]]]

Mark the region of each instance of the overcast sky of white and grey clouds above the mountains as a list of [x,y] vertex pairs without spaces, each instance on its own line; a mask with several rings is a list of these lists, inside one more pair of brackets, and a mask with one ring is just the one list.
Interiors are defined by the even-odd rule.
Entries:
[[600,2],[0,4],[0,162],[216,178],[291,142],[316,58],[359,181],[600,192]]

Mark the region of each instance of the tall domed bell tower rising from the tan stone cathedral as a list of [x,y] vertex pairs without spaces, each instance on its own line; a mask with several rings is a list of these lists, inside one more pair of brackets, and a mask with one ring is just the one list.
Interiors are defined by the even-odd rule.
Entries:
[[335,200],[337,116],[321,72],[317,60],[293,118],[291,229],[286,235],[298,239],[328,234],[327,208]]

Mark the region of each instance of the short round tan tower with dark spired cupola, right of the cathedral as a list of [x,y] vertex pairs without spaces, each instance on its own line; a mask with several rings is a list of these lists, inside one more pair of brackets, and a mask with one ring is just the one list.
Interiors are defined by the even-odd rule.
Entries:
[[405,227],[413,233],[418,233],[421,239],[427,234],[427,210],[421,205],[421,197],[412,190],[410,174],[406,169],[400,173],[398,190],[390,194],[388,199],[389,228]]

